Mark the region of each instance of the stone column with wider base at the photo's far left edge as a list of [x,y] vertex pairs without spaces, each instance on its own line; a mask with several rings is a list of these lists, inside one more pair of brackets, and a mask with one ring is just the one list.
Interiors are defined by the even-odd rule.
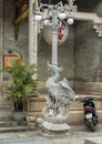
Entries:
[[[3,0],[0,0],[0,70],[3,66]],[[7,103],[2,91],[2,73],[0,73],[0,121],[9,120],[12,115],[12,105]]]

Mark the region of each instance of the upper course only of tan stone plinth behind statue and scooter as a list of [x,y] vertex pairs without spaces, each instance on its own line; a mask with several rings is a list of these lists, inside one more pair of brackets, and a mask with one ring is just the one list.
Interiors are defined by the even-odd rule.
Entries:
[[[42,107],[45,105],[45,102],[47,102],[45,96],[47,95],[41,95],[38,97],[30,97],[30,101],[28,103],[29,110],[40,112],[42,110]],[[71,111],[76,111],[76,110],[83,111],[83,103],[81,103],[81,100],[86,96],[93,96],[96,110],[100,110],[100,109],[102,110],[101,96],[100,95],[88,95],[88,94],[84,94],[84,95],[79,94],[78,97],[71,102],[70,110]]]

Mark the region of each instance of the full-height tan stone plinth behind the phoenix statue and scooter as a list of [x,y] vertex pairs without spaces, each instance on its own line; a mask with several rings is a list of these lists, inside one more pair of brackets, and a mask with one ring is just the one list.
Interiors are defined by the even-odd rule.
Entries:
[[[70,114],[68,119],[69,124],[83,124],[84,119],[83,119],[83,105],[81,103],[81,100],[86,96],[93,96],[94,97],[94,103],[96,106],[96,112],[99,115],[99,123],[102,123],[102,96],[96,94],[96,95],[91,95],[91,94],[76,94],[78,97],[75,101],[71,102],[70,105]],[[31,97],[29,103],[28,103],[28,115],[35,117],[41,116],[41,111],[45,106],[45,94],[41,93],[38,97]]]

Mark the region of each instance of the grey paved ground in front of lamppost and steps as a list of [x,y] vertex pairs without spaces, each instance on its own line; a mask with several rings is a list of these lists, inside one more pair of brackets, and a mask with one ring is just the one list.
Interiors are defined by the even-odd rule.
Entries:
[[0,133],[0,144],[84,144],[86,137],[102,137],[102,124],[98,125],[96,132],[90,132],[85,125],[70,126],[67,135],[45,136],[40,131]]

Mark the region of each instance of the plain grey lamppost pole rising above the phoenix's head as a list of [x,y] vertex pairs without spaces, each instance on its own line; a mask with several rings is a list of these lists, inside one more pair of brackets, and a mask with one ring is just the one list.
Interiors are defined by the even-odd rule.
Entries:
[[58,18],[52,9],[52,64],[58,65]]

